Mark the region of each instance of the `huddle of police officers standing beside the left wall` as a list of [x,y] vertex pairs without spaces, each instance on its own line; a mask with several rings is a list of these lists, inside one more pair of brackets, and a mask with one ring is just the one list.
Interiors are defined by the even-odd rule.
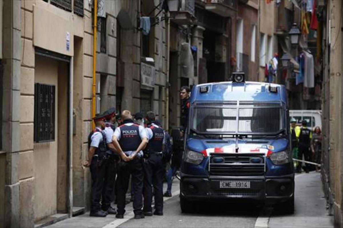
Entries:
[[[155,114],[147,112],[145,128],[133,121],[128,110],[116,115],[115,108],[110,108],[93,120],[95,129],[88,136],[89,149],[83,164],[90,167],[92,177],[90,216],[116,214],[117,218],[124,217],[130,175],[134,218],[163,215],[162,160],[166,133],[155,120]],[[114,125],[116,121],[117,128]],[[117,211],[110,205],[114,186]]]

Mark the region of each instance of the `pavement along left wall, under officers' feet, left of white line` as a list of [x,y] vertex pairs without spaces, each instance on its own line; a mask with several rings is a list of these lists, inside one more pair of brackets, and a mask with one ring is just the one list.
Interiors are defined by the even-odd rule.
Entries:
[[[167,189],[167,183],[163,184],[163,192],[165,192]],[[179,180],[177,178],[174,178],[173,180],[173,185],[171,188],[172,192],[176,192],[179,191]],[[130,198],[130,194],[127,194],[127,199]],[[170,199],[170,198],[166,198],[164,197],[164,200],[166,199]],[[112,206],[117,209],[117,205],[112,204]],[[90,217],[89,216],[89,212],[83,214],[83,215],[79,215],[76,217],[72,217],[72,218],[68,218],[65,219],[61,222],[52,224],[50,226],[47,227],[53,227],[53,228],[65,228],[65,227],[70,227],[70,228],[101,228],[104,227],[110,223],[113,223],[114,221],[116,221],[116,223],[121,222],[120,220],[122,220],[122,222],[127,221],[128,219],[130,219],[131,217],[133,217],[133,207],[132,207],[132,202],[129,204],[126,204],[125,207],[125,215],[124,215],[124,219],[117,219],[115,217],[115,215],[107,215],[104,218],[98,218],[98,217]],[[112,226],[111,226],[112,227]],[[115,227],[115,226],[113,226]]]

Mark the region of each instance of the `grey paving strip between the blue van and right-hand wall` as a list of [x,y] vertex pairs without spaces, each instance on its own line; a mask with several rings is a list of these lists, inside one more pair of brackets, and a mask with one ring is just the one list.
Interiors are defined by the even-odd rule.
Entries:
[[333,216],[329,216],[326,210],[320,173],[301,173],[295,176],[294,214],[273,213],[268,227],[333,227]]

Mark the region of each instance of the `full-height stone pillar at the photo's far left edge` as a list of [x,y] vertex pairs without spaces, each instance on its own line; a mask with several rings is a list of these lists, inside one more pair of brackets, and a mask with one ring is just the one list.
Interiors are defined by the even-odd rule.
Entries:
[[[21,1],[3,1],[2,150],[6,151],[5,227],[20,227]],[[27,205],[29,206],[29,205]]]

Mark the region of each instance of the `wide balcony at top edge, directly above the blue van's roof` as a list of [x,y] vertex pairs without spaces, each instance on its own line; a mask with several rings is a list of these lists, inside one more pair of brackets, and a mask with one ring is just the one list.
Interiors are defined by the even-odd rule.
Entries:
[[201,0],[205,3],[205,10],[221,15],[223,17],[230,16],[230,11],[237,11],[238,0]]

